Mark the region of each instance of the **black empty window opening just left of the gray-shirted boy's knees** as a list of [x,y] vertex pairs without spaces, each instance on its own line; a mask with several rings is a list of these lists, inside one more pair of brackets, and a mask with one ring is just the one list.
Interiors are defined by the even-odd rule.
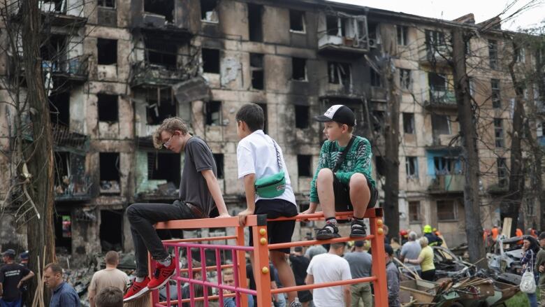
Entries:
[[103,252],[123,249],[123,210],[101,210],[99,238]]

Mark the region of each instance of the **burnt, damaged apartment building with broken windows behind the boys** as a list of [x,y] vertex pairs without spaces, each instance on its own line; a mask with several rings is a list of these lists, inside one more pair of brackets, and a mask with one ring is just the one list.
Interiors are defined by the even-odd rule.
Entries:
[[[312,117],[339,103],[356,112],[356,134],[375,136],[382,197],[386,52],[394,59],[401,111],[400,227],[420,232],[423,224],[433,224],[449,245],[462,243],[456,100],[452,72],[439,53],[448,51],[444,42],[453,27],[475,27],[474,21],[321,0],[54,0],[41,1],[41,8],[54,21],[42,60],[54,127],[59,252],[85,259],[101,250],[130,251],[124,209],[177,197],[184,157],[152,142],[167,117],[182,117],[210,145],[227,207],[238,213],[245,199],[237,180],[235,113],[244,103],[265,111],[265,131],[282,146],[300,210],[308,206],[324,139]],[[502,39],[502,31],[493,31],[468,48],[498,57],[507,48]],[[509,144],[514,97],[506,67],[489,62],[475,70],[479,82],[472,83],[474,98],[494,115],[494,131],[484,133],[492,145],[480,152],[489,174],[483,177],[484,202],[490,204],[482,209],[485,227],[500,218],[509,152],[496,157],[494,149]],[[536,90],[529,97],[540,96]],[[9,117],[4,110],[0,115],[5,140]],[[541,137],[541,126],[536,131]],[[13,227],[13,221],[2,227]],[[313,227],[298,224],[296,238]],[[226,229],[210,231],[216,234],[201,229],[185,235]],[[24,246],[22,238],[1,236],[0,243]]]

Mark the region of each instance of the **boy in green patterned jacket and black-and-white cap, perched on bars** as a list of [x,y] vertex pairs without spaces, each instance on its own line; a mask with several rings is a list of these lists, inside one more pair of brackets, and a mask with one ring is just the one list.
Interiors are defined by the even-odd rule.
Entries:
[[[363,215],[377,201],[375,180],[371,176],[371,144],[367,138],[352,136],[356,118],[347,106],[332,106],[314,120],[324,122],[328,139],[321,147],[318,168],[310,184],[310,208],[303,213],[314,213],[321,205],[326,225],[317,231],[316,238],[326,240],[340,237],[335,208],[341,211],[354,208],[350,236],[365,237]],[[343,157],[344,150],[348,151]]]

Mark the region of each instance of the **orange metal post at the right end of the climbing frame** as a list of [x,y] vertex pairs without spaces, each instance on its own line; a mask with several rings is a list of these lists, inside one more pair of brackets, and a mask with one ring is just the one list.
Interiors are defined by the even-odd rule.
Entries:
[[388,290],[386,285],[386,259],[384,257],[384,234],[382,219],[372,217],[369,219],[371,234],[371,255],[373,259],[372,273],[375,280],[375,306],[388,307]]

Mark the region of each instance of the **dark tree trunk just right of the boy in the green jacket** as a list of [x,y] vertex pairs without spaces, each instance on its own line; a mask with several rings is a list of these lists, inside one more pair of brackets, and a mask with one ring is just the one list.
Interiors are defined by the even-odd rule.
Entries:
[[388,91],[386,106],[386,127],[384,127],[384,221],[388,224],[390,237],[399,233],[399,101],[395,91],[391,58],[384,63],[384,79]]

